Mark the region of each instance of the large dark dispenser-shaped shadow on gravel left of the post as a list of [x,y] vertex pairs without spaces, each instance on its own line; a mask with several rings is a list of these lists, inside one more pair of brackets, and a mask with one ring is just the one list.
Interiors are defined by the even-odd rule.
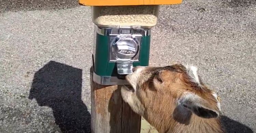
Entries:
[[90,113],[81,92],[82,70],[50,61],[35,73],[29,99],[52,108],[62,133],[89,133]]

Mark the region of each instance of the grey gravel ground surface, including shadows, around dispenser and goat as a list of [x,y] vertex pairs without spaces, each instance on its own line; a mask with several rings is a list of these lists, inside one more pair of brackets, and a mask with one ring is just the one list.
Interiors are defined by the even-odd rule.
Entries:
[[[255,20],[255,0],[184,0],[152,29],[150,65],[197,65],[228,133],[256,132]],[[89,132],[92,44],[76,0],[0,0],[0,132]]]

